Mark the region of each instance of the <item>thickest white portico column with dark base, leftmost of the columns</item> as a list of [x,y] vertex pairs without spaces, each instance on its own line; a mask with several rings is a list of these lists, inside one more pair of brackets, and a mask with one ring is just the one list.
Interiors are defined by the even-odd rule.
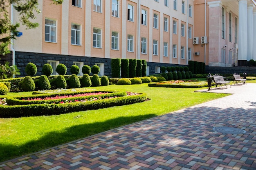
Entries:
[[238,0],[238,66],[247,61],[247,0]]

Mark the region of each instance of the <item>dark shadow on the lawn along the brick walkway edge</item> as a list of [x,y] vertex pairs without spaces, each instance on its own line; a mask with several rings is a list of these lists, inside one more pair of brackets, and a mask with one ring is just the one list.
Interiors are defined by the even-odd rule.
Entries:
[[38,140],[33,140],[24,145],[17,146],[11,144],[0,144],[0,162],[15,157],[38,152],[45,148],[54,147],[60,144],[71,142],[77,139],[88,137],[103,131],[108,131],[120,126],[139,122],[148,118],[157,116],[156,114],[119,117],[105,122],[95,122],[91,124],[82,124],[64,129],[62,132],[49,132]]

